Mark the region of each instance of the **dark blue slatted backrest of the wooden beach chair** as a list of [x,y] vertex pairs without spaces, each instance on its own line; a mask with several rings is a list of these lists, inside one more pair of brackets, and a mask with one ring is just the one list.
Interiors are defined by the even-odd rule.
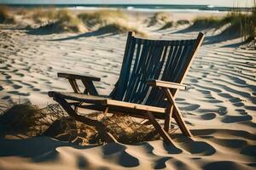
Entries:
[[[148,79],[183,82],[204,35],[191,40],[148,40],[128,33],[123,65],[113,99],[146,105],[164,106],[164,95],[150,88]],[[172,90],[175,95],[177,90]]]

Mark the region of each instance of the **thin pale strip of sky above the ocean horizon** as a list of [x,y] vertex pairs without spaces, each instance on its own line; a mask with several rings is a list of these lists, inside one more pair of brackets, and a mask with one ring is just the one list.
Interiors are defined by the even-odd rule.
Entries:
[[150,3],[207,4],[222,7],[250,7],[255,0],[0,0],[0,3]]

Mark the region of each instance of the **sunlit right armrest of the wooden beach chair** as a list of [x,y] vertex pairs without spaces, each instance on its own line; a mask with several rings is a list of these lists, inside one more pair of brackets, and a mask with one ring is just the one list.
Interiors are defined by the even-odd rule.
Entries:
[[158,88],[177,88],[186,89],[186,85],[177,82],[165,82],[160,80],[148,80],[148,86],[158,87]]

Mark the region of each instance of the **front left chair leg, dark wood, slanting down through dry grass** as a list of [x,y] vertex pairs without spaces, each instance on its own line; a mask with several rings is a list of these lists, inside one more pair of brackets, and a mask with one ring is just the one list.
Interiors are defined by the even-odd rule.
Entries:
[[96,120],[92,120],[90,118],[87,118],[85,116],[78,115],[70,105],[68,105],[67,101],[65,99],[61,99],[57,96],[54,96],[54,99],[56,102],[58,102],[62,108],[67,111],[67,114],[69,116],[72,116],[75,120],[79,122],[83,122],[89,126],[96,127],[96,130],[98,131],[99,135],[102,136],[102,139],[107,142],[118,142],[117,139],[114,139],[113,135],[111,133],[108,133],[108,128],[102,123],[98,122]]

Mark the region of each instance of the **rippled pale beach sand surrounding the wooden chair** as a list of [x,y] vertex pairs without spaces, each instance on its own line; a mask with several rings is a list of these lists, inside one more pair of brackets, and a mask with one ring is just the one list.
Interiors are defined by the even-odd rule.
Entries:
[[[152,38],[195,38],[198,33],[186,26],[163,31],[143,26]],[[53,103],[49,90],[71,90],[57,72],[101,77],[96,82],[100,94],[109,94],[119,77],[125,34],[32,35],[14,25],[0,28],[2,101]],[[0,169],[255,169],[256,51],[239,48],[239,38],[216,34],[208,31],[185,79],[188,89],[177,94],[193,138],[177,131],[171,135],[176,147],[162,139],[78,146],[48,137],[0,138]]]

